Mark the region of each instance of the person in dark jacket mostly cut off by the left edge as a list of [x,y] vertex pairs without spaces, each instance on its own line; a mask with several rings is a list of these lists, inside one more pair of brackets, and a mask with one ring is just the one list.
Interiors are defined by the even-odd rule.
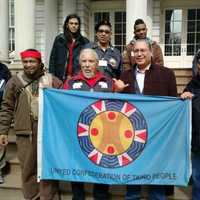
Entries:
[[[10,71],[6,65],[0,61],[0,106],[3,98],[3,92],[8,79],[11,77]],[[3,183],[3,168],[6,167],[6,148],[0,147],[0,183]]]

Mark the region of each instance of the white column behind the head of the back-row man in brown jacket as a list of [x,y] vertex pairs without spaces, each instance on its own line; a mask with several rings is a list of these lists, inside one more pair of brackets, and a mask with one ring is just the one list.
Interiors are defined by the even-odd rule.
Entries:
[[126,0],[126,43],[133,38],[135,20],[147,21],[147,3],[148,0]]

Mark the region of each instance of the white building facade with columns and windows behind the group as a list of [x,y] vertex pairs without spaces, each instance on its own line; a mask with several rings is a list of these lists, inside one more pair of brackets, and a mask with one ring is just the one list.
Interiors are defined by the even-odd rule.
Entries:
[[19,52],[36,48],[48,60],[64,18],[77,13],[82,34],[94,39],[94,26],[108,19],[113,26],[112,43],[123,51],[133,37],[133,25],[142,18],[148,36],[163,50],[165,66],[191,68],[200,48],[199,0],[0,0],[0,58],[19,61]]

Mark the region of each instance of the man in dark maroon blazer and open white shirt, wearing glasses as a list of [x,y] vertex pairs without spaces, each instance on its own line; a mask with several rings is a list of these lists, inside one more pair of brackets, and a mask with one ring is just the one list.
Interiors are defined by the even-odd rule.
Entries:
[[[124,71],[121,80],[128,84],[123,92],[141,95],[176,96],[176,79],[172,70],[152,63],[151,45],[147,40],[137,40],[133,47],[136,64]],[[165,187],[151,185],[149,199],[165,200]],[[126,200],[141,199],[140,185],[128,185]]]

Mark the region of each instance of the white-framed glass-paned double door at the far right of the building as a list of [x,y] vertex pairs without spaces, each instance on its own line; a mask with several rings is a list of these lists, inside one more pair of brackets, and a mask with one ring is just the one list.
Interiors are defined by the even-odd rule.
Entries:
[[200,9],[166,9],[164,32],[165,65],[191,68],[200,48]]

